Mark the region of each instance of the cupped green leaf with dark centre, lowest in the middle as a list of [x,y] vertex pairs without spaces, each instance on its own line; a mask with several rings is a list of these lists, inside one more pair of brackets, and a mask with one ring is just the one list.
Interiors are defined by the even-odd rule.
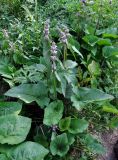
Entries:
[[69,143],[66,133],[57,136],[50,143],[50,150],[52,155],[59,155],[60,157],[63,157],[68,152]]

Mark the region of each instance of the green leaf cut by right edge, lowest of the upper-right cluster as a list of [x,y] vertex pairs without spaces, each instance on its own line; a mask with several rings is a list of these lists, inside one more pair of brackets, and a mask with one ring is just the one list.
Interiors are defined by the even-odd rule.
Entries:
[[102,53],[105,58],[117,56],[118,55],[118,47],[105,46],[102,50]]

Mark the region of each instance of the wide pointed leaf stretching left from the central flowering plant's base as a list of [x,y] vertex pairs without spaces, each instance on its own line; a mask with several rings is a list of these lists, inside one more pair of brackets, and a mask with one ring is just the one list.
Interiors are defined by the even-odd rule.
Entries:
[[42,101],[47,96],[47,88],[43,82],[39,82],[38,84],[21,84],[8,90],[5,95],[19,98],[26,103],[37,101],[40,104],[41,101],[41,105],[45,105],[45,100],[44,103]]

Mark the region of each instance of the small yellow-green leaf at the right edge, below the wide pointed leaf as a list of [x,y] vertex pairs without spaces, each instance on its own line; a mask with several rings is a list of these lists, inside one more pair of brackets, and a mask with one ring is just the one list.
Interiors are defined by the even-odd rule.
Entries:
[[109,112],[109,113],[118,114],[118,109],[115,108],[112,105],[105,105],[105,106],[103,106],[103,111]]

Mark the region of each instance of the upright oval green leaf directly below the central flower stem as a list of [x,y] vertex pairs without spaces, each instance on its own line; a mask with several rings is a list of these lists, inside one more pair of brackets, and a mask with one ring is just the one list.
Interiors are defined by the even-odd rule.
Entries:
[[63,115],[63,102],[58,100],[49,104],[48,107],[45,108],[43,123],[52,126],[58,124],[59,120]]

